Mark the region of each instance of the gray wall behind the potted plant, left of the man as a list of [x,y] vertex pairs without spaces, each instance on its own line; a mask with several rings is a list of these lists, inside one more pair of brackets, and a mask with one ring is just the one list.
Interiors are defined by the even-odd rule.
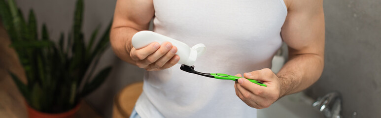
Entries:
[[[58,40],[61,31],[67,35],[72,26],[74,5],[76,0],[16,0],[17,5],[27,18],[29,9],[35,10],[39,27],[46,23],[50,37]],[[115,8],[116,0],[84,0],[83,31],[85,38],[89,39],[91,32],[102,25],[100,32],[110,22]],[[40,30],[41,28],[39,28]],[[111,48],[107,50],[98,65],[99,71],[105,66],[112,65],[113,70],[105,83],[94,93],[86,97],[95,110],[105,118],[112,114],[112,100],[114,95],[123,87],[133,82],[142,81],[142,69],[121,61],[115,56]]]

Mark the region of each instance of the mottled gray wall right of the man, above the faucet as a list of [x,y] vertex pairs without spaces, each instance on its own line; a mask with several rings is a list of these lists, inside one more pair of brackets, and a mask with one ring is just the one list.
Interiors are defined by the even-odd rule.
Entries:
[[339,91],[343,116],[381,117],[381,0],[324,0],[325,66],[306,92]]

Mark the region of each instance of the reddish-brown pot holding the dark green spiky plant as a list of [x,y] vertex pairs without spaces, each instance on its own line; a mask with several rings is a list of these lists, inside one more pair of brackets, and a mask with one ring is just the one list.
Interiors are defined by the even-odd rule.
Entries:
[[74,115],[79,110],[79,107],[80,107],[80,103],[78,103],[77,106],[75,106],[73,109],[67,112],[58,113],[58,114],[50,114],[50,113],[42,113],[42,112],[36,111],[35,109],[33,109],[27,104],[29,118],[75,118]]

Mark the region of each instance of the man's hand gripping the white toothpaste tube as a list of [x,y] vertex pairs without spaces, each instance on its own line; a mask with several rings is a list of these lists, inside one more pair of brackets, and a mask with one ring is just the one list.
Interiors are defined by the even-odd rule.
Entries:
[[153,42],[146,47],[135,49],[130,52],[131,59],[136,61],[136,65],[147,71],[156,71],[172,67],[180,57],[175,55],[177,48],[170,42],[160,45]]

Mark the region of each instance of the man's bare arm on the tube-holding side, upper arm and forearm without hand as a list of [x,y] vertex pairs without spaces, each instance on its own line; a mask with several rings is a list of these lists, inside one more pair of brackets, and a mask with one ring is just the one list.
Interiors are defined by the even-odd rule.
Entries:
[[135,64],[130,57],[132,36],[148,30],[154,15],[152,0],[117,0],[111,27],[110,41],[115,54],[122,60]]

